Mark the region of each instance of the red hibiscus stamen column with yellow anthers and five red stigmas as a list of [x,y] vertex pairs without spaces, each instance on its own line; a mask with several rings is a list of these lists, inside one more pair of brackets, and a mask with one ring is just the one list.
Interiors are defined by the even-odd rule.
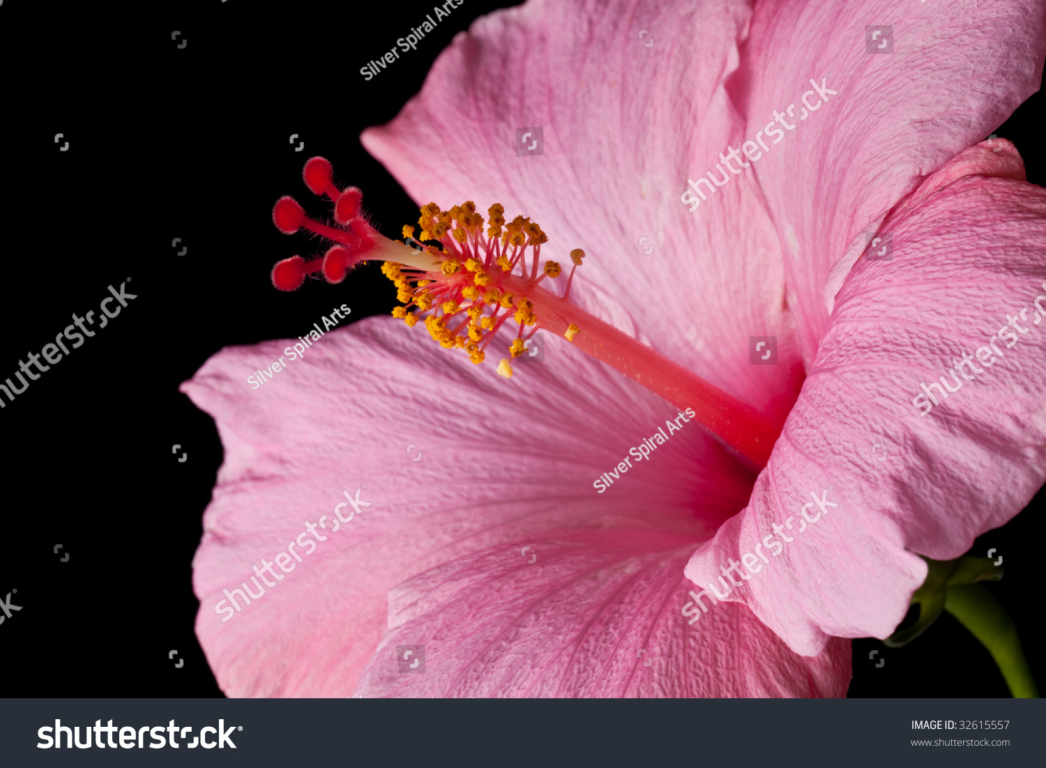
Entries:
[[[570,252],[573,267],[560,296],[549,290],[549,284],[541,285],[556,280],[563,272],[558,263],[540,261],[541,246],[548,238],[536,222],[523,217],[506,224],[500,204],[491,206],[484,222],[472,201],[446,211],[429,203],[418,219],[418,239],[408,225],[403,228],[406,242],[399,243],[365,221],[359,189],[338,190],[325,159],[309,160],[303,177],[313,193],[334,202],[334,219],[340,228],[306,218],[289,197],[276,202],[273,221],[281,232],[292,234],[304,228],[337,245],[310,262],[300,256],[279,262],[272,271],[276,288],[293,291],[314,272],[321,272],[328,283],[340,283],[355,265],[384,259],[382,271],[395,284],[404,304],[392,314],[413,326],[420,314],[428,313],[425,325],[441,346],[463,348],[472,362],[481,363],[498,331],[511,319],[519,326],[508,347],[515,358],[523,354],[527,339],[543,329],[674,405],[692,408],[698,421],[745,462],[755,469],[766,466],[781,425],[569,300],[574,270],[585,257],[581,249]],[[498,372],[513,376],[508,359],[501,360]]]

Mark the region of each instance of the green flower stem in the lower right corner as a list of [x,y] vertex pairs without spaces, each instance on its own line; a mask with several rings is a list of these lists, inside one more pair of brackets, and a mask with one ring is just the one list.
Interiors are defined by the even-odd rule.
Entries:
[[980,640],[999,665],[1015,699],[1038,699],[1039,688],[1024,658],[1017,626],[1006,609],[980,584],[948,588],[945,610]]

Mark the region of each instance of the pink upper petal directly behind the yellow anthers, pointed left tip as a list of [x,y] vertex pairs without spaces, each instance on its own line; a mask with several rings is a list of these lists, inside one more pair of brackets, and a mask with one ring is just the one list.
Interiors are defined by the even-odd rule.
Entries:
[[[783,421],[802,370],[757,180],[724,186],[714,216],[680,204],[687,177],[745,138],[723,82],[749,13],[722,0],[497,12],[362,140],[419,204],[500,202],[541,224],[544,256],[583,248],[583,307]],[[517,157],[517,129],[538,126],[544,154]],[[750,336],[777,337],[777,365],[749,364]]]

